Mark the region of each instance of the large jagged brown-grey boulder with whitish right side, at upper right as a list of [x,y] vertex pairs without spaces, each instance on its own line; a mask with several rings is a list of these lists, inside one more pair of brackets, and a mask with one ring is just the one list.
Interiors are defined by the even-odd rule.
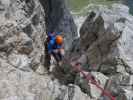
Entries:
[[132,70],[132,20],[128,7],[119,4],[94,10],[87,17],[80,30],[81,46],[96,70],[109,64],[116,72],[118,58]]

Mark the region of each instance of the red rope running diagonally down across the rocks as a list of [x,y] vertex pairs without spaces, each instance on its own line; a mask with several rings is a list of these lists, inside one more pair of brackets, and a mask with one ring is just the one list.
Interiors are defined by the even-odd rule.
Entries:
[[72,66],[78,71],[78,72],[81,72],[81,74],[87,79],[87,81],[91,81],[92,84],[94,84],[97,88],[99,88],[102,92],[103,92],[103,95],[106,95],[108,97],[110,97],[111,100],[116,100],[115,97],[113,97],[111,95],[111,93],[109,91],[105,91],[97,82],[96,80],[93,78],[93,76],[91,74],[87,74],[85,73],[85,71],[83,69],[81,69],[81,66],[80,64],[76,64],[76,65],[73,65]]

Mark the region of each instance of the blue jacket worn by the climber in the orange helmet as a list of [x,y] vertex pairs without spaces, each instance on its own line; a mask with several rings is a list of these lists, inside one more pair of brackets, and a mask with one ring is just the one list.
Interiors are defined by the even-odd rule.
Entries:
[[52,53],[53,50],[55,49],[60,49],[62,48],[62,45],[58,45],[56,43],[56,35],[59,35],[60,33],[48,33],[48,38],[49,38],[49,42],[48,42],[48,53]]

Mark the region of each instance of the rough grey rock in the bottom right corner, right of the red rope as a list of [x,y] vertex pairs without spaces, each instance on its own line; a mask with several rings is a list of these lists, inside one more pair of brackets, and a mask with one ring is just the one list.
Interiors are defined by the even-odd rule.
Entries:
[[[110,78],[107,83],[106,89],[112,93],[118,100],[127,98],[126,95],[132,92],[132,77],[130,75],[115,74]],[[128,99],[124,99],[128,100]],[[130,100],[130,99],[129,99]]]

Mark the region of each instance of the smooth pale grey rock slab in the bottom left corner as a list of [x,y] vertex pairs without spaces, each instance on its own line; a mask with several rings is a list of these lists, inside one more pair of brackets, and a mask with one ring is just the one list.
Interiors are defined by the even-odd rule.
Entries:
[[[24,72],[2,59],[0,64],[1,100],[55,100],[54,97],[58,95],[59,85],[51,81],[49,76]],[[55,93],[54,89],[57,89]]]

